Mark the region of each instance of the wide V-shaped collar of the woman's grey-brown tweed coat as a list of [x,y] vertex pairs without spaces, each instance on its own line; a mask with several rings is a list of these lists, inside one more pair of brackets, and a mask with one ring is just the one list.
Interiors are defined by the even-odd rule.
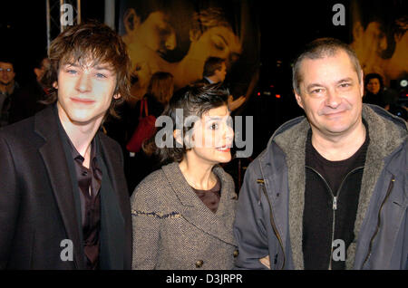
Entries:
[[236,245],[232,226],[237,195],[230,176],[219,166],[213,168],[213,172],[221,182],[219,208],[217,213],[213,213],[189,186],[181,173],[179,163],[171,163],[162,167],[162,170],[170,183],[170,187],[180,200],[181,216],[209,235],[213,235],[228,244]]

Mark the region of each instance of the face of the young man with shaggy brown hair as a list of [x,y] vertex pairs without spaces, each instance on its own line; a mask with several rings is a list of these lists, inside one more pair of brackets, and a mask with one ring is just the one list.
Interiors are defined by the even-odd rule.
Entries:
[[[58,72],[58,111],[61,117],[80,125],[102,122],[110,108],[116,86],[116,73],[105,63],[97,66],[68,63]],[[61,114],[62,113],[62,114]]]

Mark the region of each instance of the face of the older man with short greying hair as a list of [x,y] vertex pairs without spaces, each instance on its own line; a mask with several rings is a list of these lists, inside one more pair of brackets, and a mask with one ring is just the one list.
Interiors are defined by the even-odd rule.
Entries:
[[305,110],[312,130],[341,136],[361,123],[363,85],[347,53],[305,59],[300,72],[303,81],[296,101]]

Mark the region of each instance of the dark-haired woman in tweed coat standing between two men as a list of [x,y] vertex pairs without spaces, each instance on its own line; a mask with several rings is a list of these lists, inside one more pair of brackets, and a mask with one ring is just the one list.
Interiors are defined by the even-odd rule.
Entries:
[[216,84],[187,86],[163,112],[171,127],[159,130],[144,149],[166,165],[131,196],[133,269],[233,268],[237,195],[219,166],[231,159],[234,135],[227,97]]

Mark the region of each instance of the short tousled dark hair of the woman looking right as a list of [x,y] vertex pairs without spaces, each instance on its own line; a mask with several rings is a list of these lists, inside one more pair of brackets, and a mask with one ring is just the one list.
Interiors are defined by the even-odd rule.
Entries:
[[[182,147],[180,147],[180,143],[176,145],[176,139],[174,139],[172,132],[176,130],[176,128],[182,127],[183,135],[191,135],[194,126],[185,126],[186,120],[190,116],[201,118],[202,115],[209,110],[219,108],[223,105],[228,105],[228,90],[222,88],[219,83],[210,85],[195,83],[176,91],[161,114],[161,116],[170,117],[172,121],[173,126],[170,135],[172,138],[171,147],[159,148],[156,145],[156,135],[160,132],[160,130],[158,130],[151,139],[143,144],[143,151],[148,155],[158,157],[162,165],[170,162],[180,162],[189,148],[184,141],[181,143]],[[180,110],[182,110],[182,119],[180,119]],[[164,127],[162,129],[169,128]],[[165,137],[164,135],[163,141],[166,141]]]

